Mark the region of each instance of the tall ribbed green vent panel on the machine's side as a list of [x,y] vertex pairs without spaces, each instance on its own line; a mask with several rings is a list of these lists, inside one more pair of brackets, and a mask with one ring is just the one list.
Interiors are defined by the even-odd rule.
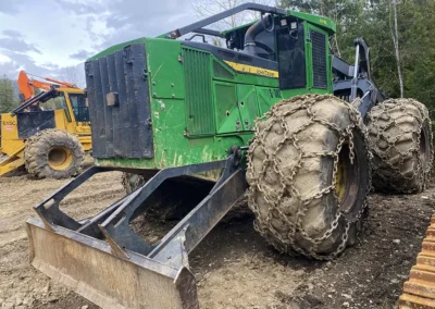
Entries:
[[189,136],[214,134],[210,54],[183,48]]

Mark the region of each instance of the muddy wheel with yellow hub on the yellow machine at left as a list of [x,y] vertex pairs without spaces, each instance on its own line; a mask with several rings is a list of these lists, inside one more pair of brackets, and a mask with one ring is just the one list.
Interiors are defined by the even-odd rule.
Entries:
[[41,131],[26,141],[24,161],[29,174],[38,178],[67,178],[78,175],[85,151],[78,138],[62,129]]

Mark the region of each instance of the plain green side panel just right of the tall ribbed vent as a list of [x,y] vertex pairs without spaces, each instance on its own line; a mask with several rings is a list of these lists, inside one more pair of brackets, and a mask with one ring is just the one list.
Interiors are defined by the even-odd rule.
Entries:
[[236,99],[236,85],[214,83],[217,134],[241,131],[240,113]]

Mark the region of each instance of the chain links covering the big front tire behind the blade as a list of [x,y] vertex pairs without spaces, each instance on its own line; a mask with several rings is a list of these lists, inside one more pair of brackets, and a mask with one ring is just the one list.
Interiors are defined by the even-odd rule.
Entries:
[[[340,128],[336,123],[322,119],[313,111],[312,108],[314,107],[314,104],[327,99],[333,99],[335,102],[339,102],[340,104],[343,104],[344,108],[347,109],[350,121],[349,125],[347,125],[345,128]],[[282,109],[282,107],[284,106],[285,109]],[[288,122],[286,119],[299,111],[304,111],[306,115],[309,118],[309,121],[300,125],[297,129],[290,129],[290,127],[288,127]],[[269,121],[265,127],[263,127],[264,121]],[[301,140],[298,139],[297,135],[315,123],[321,124],[337,134],[338,144],[335,150],[324,150],[320,152],[302,151],[300,147]],[[275,127],[276,124],[279,124],[279,127],[284,131],[283,138],[278,143],[276,143],[276,145],[274,145],[274,149],[271,150],[266,147],[266,138],[268,134]],[[283,100],[273,106],[269,112],[266,112],[262,118],[256,121],[254,132],[256,137],[248,150],[248,158],[250,158],[250,160],[248,162],[247,169],[247,175],[250,183],[250,189],[248,191],[249,206],[256,213],[257,218],[254,228],[269,240],[271,240],[271,237],[269,237],[270,234],[272,234],[273,238],[278,239],[278,242],[272,242],[272,244],[279,250],[288,252],[289,249],[291,249],[293,251],[296,251],[300,255],[319,260],[331,260],[335,258],[346,248],[346,244],[349,237],[348,233],[351,224],[358,224],[358,221],[361,219],[363,213],[366,212],[366,195],[371,189],[371,171],[369,171],[369,185],[366,187],[364,202],[360,207],[358,213],[356,213],[352,218],[352,213],[350,213],[350,210],[346,212],[346,210],[341,210],[339,208],[338,197],[336,194],[336,184],[339,160],[338,153],[340,152],[343,145],[345,143],[348,144],[349,160],[351,164],[355,164],[353,133],[358,132],[359,135],[364,139],[364,148],[368,156],[366,160],[370,160],[371,158],[369,147],[365,143],[368,133],[365,126],[363,125],[360,113],[349,103],[330,95],[300,96],[291,98],[289,100]],[[281,168],[281,162],[278,162],[277,160],[277,153],[285,145],[291,145],[299,153],[299,156],[296,158],[296,162],[294,162],[295,164],[291,171],[287,171],[286,173],[283,172],[283,169]],[[260,171],[254,170],[252,162],[254,151],[258,148],[260,148],[261,151],[264,153],[264,159],[261,163]],[[294,178],[301,171],[304,159],[314,157],[330,157],[333,159],[333,180],[331,185],[323,187],[319,191],[310,195],[309,197],[302,197],[295,186]],[[370,164],[368,165],[370,166]],[[281,182],[281,187],[278,189],[276,189],[275,187],[271,189],[262,181],[266,175],[266,171],[270,169],[272,169],[273,172],[278,176],[278,180]],[[291,220],[289,219],[289,215],[284,213],[278,207],[282,203],[285,193],[288,190],[290,191],[290,196],[295,197],[298,200],[297,211],[295,213],[296,219]],[[337,206],[337,210],[334,220],[330,224],[330,227],[323,233],[323,235],[313,238],[303,230],[303,219],[309,211],[310,205],[315,199],[322,199],[327,195],[333,195],[333,198]],[[264,201],[266,202],[266,211],[262,210],[260,212],[259,206],[256,201],[257,196],[261,196],[261,198],[264,199]],[[265,217],[264,213],[266,213]],[[287,235],[283,235],[283,233],[279,233],[279,231],[277,231],[273,226],[272,217],[277,217],[279,220],[283,221],[283,224],[288,227],[289,233]],[[337,228],[344,228],[338,247],[332,254],[319,255],[319,245],[327,240]],[[300,237],[302,237],[306,242],[311,244],[309,246],[310,248],[307,249],[307,246],[302,248],[300,245],[296,244],[295,239],[297,237],[298,240],[300,240]]]

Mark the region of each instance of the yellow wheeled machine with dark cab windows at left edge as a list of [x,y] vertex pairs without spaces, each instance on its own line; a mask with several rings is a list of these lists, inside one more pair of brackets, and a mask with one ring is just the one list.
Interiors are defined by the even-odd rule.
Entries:
[[22,165],[36,177],[77,175],[91,149],[84,90],[24,71],[17,83],[22,103],[0,115],[0,176]]

